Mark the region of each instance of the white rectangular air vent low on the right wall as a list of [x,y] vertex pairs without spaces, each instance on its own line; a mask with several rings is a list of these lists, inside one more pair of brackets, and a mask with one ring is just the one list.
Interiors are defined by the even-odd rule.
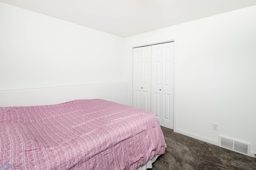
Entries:
[[250,144],[246,142],[219,136],[219,146],[250,156]]

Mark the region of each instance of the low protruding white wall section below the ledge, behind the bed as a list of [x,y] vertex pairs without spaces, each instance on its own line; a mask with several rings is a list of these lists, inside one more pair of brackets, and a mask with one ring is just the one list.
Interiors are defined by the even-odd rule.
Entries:
[[53,105],[77,99],[104,99],[127,104],[127,84],[119,82],[0,91],[0,107]]

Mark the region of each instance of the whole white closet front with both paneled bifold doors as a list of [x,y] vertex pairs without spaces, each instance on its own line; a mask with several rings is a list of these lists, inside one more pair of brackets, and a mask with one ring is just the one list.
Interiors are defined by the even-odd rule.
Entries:
[[173,129],[174,42],[133,48],[133,107]]

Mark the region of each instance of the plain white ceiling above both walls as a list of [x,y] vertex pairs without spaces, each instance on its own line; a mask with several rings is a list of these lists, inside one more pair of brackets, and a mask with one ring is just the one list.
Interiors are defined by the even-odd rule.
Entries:
[[256,0],[0,0],[0,2],[123,38],[256,5]]

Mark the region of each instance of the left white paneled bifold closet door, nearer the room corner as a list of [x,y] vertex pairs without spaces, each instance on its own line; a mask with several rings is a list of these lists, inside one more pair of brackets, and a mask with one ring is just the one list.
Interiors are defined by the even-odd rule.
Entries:
[[151,111],[151,47],[133,48],[132,106]]

